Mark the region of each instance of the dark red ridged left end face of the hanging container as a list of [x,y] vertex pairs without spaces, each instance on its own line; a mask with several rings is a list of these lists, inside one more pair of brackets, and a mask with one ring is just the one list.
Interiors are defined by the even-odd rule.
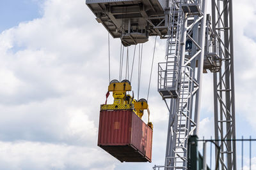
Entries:
[[98,145],[131,143],[131,111],[100,111]]

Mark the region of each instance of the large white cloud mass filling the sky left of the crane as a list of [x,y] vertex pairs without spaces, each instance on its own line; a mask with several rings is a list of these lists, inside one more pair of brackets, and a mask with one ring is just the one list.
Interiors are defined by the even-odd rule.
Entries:
[[114,169],[116,160],[97,147],[108,82],[107,60],[99,62],[106,42],[93,39],[106,31],[88,24],[83,1],[42,5],[42,18],[0,34],[0,167]]

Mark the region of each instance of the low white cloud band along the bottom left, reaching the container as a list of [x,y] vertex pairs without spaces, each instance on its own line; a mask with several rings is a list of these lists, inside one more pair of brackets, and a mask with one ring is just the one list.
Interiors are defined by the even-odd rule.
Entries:
[[[115,167],[111,165],[113,158],[86,146],[29,141],[0,142],[0,146],[1,169],[91,169],[93,165],[95,169]],[[99,162],[102,164],[99,165]]]

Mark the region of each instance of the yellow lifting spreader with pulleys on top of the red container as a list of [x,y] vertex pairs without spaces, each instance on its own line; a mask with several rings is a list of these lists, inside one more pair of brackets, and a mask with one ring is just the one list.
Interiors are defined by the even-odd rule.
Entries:
[[[132,87],[129,80],[112,80],[108,86],[108,93],[106,98],[109,96],[109,92],[113,93],[114,103],[113,104],[101,104],[100,111],[103,110],[133,110],[134,113],[140,118],[143,117],[144,110],[148,112],[148,126],[153,129],[152,122],[149,122],[150,111],[148,109],[148,103],[146,99],[140,99],[136,101],[134,96],[127,94],[131,92]],[[133,93],[133,92],[132,92]],[[107,101],[107,100],[106,100]]]

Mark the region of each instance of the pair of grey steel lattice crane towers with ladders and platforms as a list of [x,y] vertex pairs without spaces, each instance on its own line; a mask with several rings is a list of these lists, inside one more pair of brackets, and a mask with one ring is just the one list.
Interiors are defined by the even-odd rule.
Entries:
[[188,137],[198,134],[206,69],[214,73],[215,138],[223,139],[220,165],[236,169],[236,143],[225,141],[236,139],[232,1],[212,0],[212,22],[206,8],[207,1],[170,1],[166,62],[158,69],[158,91],[170,112],[166,159],[154,169],[188,169]]

